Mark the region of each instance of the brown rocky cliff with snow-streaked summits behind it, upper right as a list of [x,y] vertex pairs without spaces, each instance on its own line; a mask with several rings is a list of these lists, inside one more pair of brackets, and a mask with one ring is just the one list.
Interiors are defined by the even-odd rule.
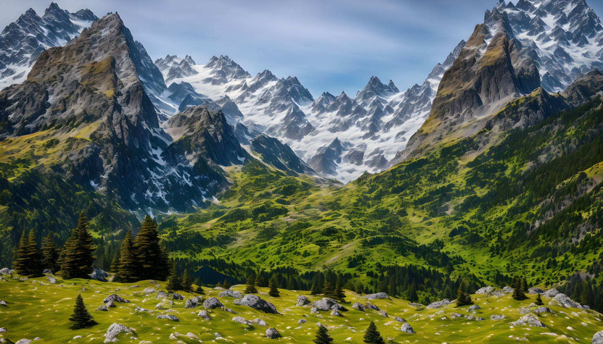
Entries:
[[[603,27],[582,0],[499,1],[487,10],[438,87],[428,119],[393,164],[438,145],[455,128],[467,136],[485,116],[538,87],[542,97],[603,64]],[[555,106],[553,106],[554,108]]]

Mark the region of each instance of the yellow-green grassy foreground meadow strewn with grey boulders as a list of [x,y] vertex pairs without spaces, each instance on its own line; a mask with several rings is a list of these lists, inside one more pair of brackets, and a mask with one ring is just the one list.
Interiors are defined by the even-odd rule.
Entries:
[[[365,313],[362,313],[352,308],[351,304],[344,304],[349,311],[342,312],[341,317],[331,316],[330,312],[326,311],[321,311],[322,317],[318,317],[314,314],[311,315],[308,307],[295,306],[295,302],[298,295],[306,295],[312,300],[318,299],[320,296],[311,296],[308,292],[279,290],[281,297],[272,298],[265,294],[268,292],[267,288],[259,288],[259,296],[273,302],[281,314],[263,313],[250,307],[235,305],[232,303],[233,298],[219,298],[227,308],[232,308],[236,314],[218,308],[209,312],[212,316],[210,321],[204,321],[197,317],[197,312],[204,308],[185,310],[185,301],[175,300],[173,311],[168,313],[174,314],[180,321],[173,322],[156,319],[157,314],[163,314],[165,311],[154,311],[152,314],[134,313],[136,305],[154,310],[154,305],[160,301],[153,298],[153,295],[147,297],[142,293],[146,287],[156,286],[149,281],[138,282],[139,287],[130,287],[131,284],[101,283],[79,279],[57,280],[56,284],[45,284],[47,282],[43,277],[24,282],[11,278],[8,278],[7,281],[0,281],[0,295],[7,302],[6,307],[0,306],[0,327],[8,329],[8,333],[1,334],[4,338],[13,342],[22,338],[40,337],[39,343],[102,343],[103,335],[109,325],[117,322],[136,329],[136,334],[121,334],[118,337],[119,342],[124,343],[138,343],[140,340],[150,340],[153,343],[173,343],[174,340],[169,340],[169,335],[175,331],[181,334],[192,332],[203,341],[215,340],[213,333],[217,332],[234,343],[270,342],[264,337],[267,327],[260,325],[250,327],[233,322],[231,319],[235,315],[242,316],[247,320],[256,317],[264,319],[268,327],[277,328],[283,336],[278,341],[287,343],[310,342],[317,331],[317,322],[329,328],[335,343],[341,343],[347,338],[351,338],[346,343],[352,344],[363,343],[363,331],[370,321],[375,321],[383,337],[393,338],[397,342],[417,340],[421,343],[438,344],[442,342],[514,342],[514,339],[509,336],[526,337],[529,342],[537,343],[555,343],[558,340],[573,342],[567,337],[575,338],[579,342],[589,342],[593,334],[603,330],[603,323],[599,320],[601,314],[556,305],[549,306],[555,314],[546,313],[539,316],[546,328],[509,325],[509,322],[516,321],[521,316],[517,308],[533,302],[534,295],[529,295],[530,298],[525,301],[515,301],[509,295],[500,297],[472,295],[475,303],[482,308],[476,311],[475,316],[481,316],[487,320],[467,321],[465,317],[451,319],[449,316],[450,313],[461,313],[467,316],[469,314],[466,310],[467,306],[448,305],[438,309],[417,310],[417,308],[409,306],[407,301],[396,298],[391,301],[387,299],[371,301],[380,309],[387,311],[388,318],[384,318],[379,312],[368,308]],[[159,284],[165,283],[159,282]],[[83,287],[86,287],[86,290],[81,291]],[[243,287],[235,286],[233,289],[242,292]],[[219,290],[206,290],[206,297],[217,296],[218,292]],[[83,330],[70,330],[71,324],[68,318],[72,313],[74,298],[78,293],[84,297],[87,308],[99,324]],[[109,308],[109,311],[94,311],[107,295],[113,293],[130,300],[131,303],[117,303],[118,307]],[[185,296],[185,300],[194,296],[191,293],[180,293]],[[348,302],[366,301],[353,292],[347,292],[346,296]],[[146,301],[145,298],[147,298]],[[547,298],[543,298],[545,304],[547,300]],[[309,316],[303,317],[303,314]],[[506,319],[489,320],[493,314],[504,314]],[[400,323],[394,321],[394,316],[405,318],[416,334],[400,332]],[[298,325],[298,319],[306,319],[308,322]],[[581,322],[586,325],[582,325]],[[84,338],[72,339],[75,336]],[[137,337],[137,339],[130,340],[130,336]],[[189,341],[189,343],[193,342]]]

